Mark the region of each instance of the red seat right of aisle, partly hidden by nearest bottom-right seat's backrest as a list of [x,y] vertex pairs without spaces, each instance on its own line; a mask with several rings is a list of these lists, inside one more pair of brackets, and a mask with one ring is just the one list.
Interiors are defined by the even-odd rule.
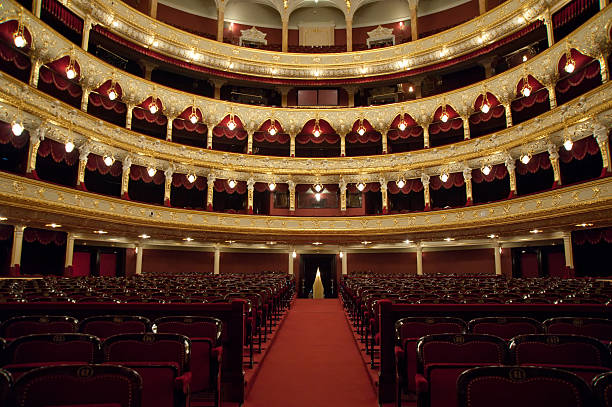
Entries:
[[416,375],[421,407],[454,407],[457,378],[465,370],[485,365],[502,365],[506,342],[482,334],[442,334],[421,338],[417,345],[419,372]]

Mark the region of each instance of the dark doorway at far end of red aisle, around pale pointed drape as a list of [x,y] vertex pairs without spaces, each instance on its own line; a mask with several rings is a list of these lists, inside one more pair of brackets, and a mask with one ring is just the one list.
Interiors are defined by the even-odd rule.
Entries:
[[336,276],[335,254],[301,254],[300,255],[300,283],[298,295],[308,298],[311,295],[317,268],[321,271],[321,281],[325,298],[335,298],[338,295],[338,281]]

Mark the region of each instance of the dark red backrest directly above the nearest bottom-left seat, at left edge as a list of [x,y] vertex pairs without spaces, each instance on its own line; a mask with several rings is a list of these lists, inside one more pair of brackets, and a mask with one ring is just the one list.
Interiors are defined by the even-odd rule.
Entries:
[[5,364],[43,362],[96,363],[100,339],[87,334],[36,334],[20,336],[4,352]]

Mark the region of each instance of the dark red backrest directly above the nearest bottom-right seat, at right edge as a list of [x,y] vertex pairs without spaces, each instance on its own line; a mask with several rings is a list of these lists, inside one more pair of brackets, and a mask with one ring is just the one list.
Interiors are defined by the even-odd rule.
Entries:
[[597,339],[580,335],[519,335],[510,341],[510,360],[522,364],[611,366],[610,352]]

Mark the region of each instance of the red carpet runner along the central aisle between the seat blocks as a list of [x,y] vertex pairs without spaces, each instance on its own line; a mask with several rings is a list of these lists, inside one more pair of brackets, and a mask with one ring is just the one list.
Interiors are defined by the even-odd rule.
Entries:
[[246,407],[376,407],[376,395],[337,299],[298,299]]

